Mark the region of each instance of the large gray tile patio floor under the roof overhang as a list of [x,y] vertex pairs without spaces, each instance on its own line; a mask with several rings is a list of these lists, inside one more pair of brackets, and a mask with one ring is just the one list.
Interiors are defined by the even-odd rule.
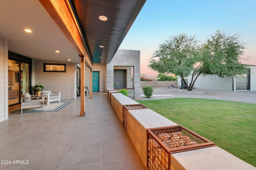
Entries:
[[85,117],[80,97],[62,101],[71,103],[57,112],[10,113],[0,123],[0,160],[11,161],[1,170],[146,169],[106,93],[86,96]]

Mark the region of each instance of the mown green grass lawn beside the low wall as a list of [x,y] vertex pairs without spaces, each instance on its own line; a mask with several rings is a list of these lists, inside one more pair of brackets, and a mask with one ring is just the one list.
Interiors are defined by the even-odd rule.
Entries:
[[195,98],[138,100],[256,167],[256,105]]

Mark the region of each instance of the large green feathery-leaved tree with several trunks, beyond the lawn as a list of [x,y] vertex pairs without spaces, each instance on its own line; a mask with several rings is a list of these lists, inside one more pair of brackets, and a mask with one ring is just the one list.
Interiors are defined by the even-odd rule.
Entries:
[[[179,75],[188,91],[192,91],[199,75],[243,74],[246,69],[240,61],[244,49],[245,43],[237,34],[216,31],[206,42],[198,44],[195,36],[182,33],[160,44],[148,67],[158,73]],[[192,75],[189,84],[184,79],[188,75]]]

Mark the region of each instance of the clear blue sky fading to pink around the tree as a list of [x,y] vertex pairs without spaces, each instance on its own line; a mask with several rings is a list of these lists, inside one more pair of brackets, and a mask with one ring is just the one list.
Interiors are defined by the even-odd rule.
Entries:
[[256,65],[256,0],[147,0],[119,49],[140,50],[140,73],[170,36],[195,35],[204,42],[216,30],[239,34],[246,44],[244,64]]

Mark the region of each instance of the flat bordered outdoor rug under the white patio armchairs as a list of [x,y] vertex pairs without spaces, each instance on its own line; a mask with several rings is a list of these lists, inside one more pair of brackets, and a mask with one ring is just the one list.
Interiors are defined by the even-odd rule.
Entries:
[[[68,105],[70,102],[60,102],[60,103],[50,103],[50,105],[44,106],[44,111],[42,107],[36,107],[36,108],[28,108],[23,109],[22,113],[32,113],[32,112],[56,112],[62,109],[64,106]],[[12,113],[20,113],[21,110],[15,111]]]

